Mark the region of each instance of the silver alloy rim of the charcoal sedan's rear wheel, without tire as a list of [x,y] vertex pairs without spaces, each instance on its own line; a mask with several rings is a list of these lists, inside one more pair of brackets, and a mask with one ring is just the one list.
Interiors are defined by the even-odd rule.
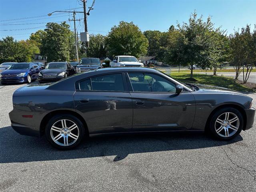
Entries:
[[50,135],[56,144],[70,146],[78,139],[79,129],[73,121],[62,119],[52,125]]

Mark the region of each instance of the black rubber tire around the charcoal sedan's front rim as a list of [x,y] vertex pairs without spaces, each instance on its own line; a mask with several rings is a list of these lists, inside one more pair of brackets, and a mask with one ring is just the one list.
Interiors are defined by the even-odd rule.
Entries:
[[[237,131],[234,132],[234,134],[232,134],[231,136],[223,137],[217,133],[217,130],[215,129],[215,124],[216,124],[217,118],[219,118],[219,116],[221,116],[222,114],[224,115],[224,113],[227,113],[227,112],[229,112],[230,114],[235,114],[238,117],[239,127],[238,127]],[[234,117],[234,115],[233,115],[233,117]],[[214,138],[217,138],[218,140],[231,140],[231,139],[235,138],[236,136],[238,136],[240,134],[240,132],[242,131],[242,128],[244,127],[244,118],[243,118],[241,112],[238,111],[237,109],[225,107],[225,108],[218,110],[212,116],[209,125],[210,125],[209,132],[210,132],[211,136],[213,136]],[[219,124],[219,125],[221,126],[221,124]],[[229,129],[229,130],[232,130],[232,129]],[[223,131],[224,130],[222,130],[222,132]],[[232,130],[232,131],[234,131],[234,130]],[[207,130],[206,130],[206,132],[207,132]]]

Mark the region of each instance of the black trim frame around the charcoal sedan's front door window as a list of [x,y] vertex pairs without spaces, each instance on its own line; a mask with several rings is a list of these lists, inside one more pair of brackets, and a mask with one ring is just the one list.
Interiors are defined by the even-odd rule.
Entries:
[[[169,81],[169,82],[172,82],[172,83],[175,84],[176,86],[179,85],[179,84],[173,82],[172,80],[170,80],[170,79],[168,79],[168,78],[166,78],[166,77],[164,77],[164,76],[161,76],[161,75],[159,75],[159,74],[157,74],[157,73],[154,73],[154,72],[126,71],[125,75],[126,75],[126,81],[127,81],[128,87],[129,87],[129,91],[130,91],[130,92],[133,92],[133,93],[153,93],[153,94],[157,94],[157,93],[170,93],[170,94],[173,94],[173,93],[176,93],[176,92],[146,92],[146,91],[134,91],[128,73],[154,74],[154,75],[158,75],[158,76],[160,76],[160,77],[166,79],[166,80]],[[184,90],[182,90],[182,92],[189,92],[188,90],[186,90],[186,88],[183,87],[183,89],[184,89]]]

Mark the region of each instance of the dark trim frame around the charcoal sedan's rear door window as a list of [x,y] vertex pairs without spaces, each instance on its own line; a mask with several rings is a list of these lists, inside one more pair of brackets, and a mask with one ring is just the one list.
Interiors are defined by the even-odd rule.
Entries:
[[[123,85],[124,85],[124,91],[108,91],[108,90],[81,90],[80,89],[80,82],[94,78],[94,77],[98,77],[98,76],[103,76],[103,75],[111,75],[111,74],[121,74],[122,75],[122,80],[123,80]],[[92,80],[90,80],[91,82],[91,86],[92,86]],[[111,73],[104,73],[104,74],[97,74],[94,76],[90,76],[90,77],[86,77],[83,79],[80,79],[78,81],[76,81],[75,83],[75,89],[76,91],[81,91],[81,92],[125,92],[125,93],[129,93],[129,89],[128,89],[128,85],[125,79],[125,74],[124,72],[111,72]]]

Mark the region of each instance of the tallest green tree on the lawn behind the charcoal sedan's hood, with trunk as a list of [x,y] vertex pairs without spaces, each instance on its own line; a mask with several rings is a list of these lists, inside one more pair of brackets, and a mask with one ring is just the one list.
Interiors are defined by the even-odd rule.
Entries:
[[176,55],[180,55],[178,62],[182,63],[182,65],[189,64],[191,66],[190,78],[193,78],[194,64],[201,66],[211,65],[211,34],[214,32],[213,26],[210,16],[204,22],[202,16],[197,17],[196,11],[190,15],[188,23],[183,23],[182,26],[178,24],[182,39],[178,41],[180,48],[174,50],[174,52],[178,51]]

